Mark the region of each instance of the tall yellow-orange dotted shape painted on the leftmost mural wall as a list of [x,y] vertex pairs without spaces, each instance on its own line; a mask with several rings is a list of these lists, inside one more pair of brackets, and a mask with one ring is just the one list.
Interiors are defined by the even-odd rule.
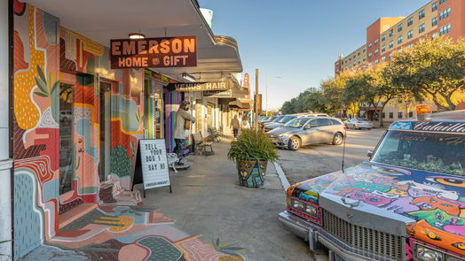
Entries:
[[28,71],[16,73],[14,76],[14,116],[18,126],[22,129],[35,127],[40,119],[40,111],[31,100],[30,93],[35,88],[35,76],[38,77],[37,65],[44,69],[43,51],[35,50],[35,8],[28,5],[28,25],[29,25],[29,68]]

